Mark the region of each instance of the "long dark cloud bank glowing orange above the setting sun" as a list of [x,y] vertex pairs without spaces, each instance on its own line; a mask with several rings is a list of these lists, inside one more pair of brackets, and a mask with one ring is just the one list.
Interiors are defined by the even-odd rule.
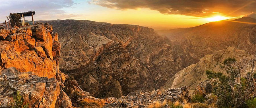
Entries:
[[255,0],[92,0],[91,4],[112,9],[148,8],[163,14],[183,14],[190,16],[211,16],[222,14],[238,16],[251,13]]

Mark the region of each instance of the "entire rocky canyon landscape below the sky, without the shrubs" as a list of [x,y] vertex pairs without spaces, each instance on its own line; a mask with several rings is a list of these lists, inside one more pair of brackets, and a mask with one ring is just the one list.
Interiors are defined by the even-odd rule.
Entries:
[[205,70],[223,72],[228,57],[251,60],[256,53],[256,26],[241,23],[256,23],[249,17],[172,30],[36,22],[0,29],[0,107],[19,92],[30,107],[148,107],[164,99],[189,100],[196,92],[209,93]]

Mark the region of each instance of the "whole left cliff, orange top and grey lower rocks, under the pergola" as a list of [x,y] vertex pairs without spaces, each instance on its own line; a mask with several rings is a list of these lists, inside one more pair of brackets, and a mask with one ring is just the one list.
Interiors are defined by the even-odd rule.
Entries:
[[69,95],[74,92],[84,103],[103,102],[82,91],[75,80],[65,82],[69,77],[59,70],[60,48],[48,23],[0,29],[0,107],[17,105],[18,94],[28,107],[37,108],[71,108],[75,104]]

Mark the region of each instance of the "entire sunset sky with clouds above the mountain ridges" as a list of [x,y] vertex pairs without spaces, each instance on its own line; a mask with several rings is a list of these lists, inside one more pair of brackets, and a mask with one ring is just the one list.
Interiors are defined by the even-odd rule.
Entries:
[[34,20],[92,20],[171,29],[216,18],[256,18],[255,6],[256,0],[0,0],[0,22],[10,13],[36,11]]

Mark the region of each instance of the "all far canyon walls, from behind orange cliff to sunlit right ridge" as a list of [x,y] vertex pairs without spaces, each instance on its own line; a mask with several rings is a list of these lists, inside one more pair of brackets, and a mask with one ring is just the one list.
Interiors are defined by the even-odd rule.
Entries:
[[255,54],[256,26],[239,22],[256,20],[234,21],[172,30],[88,20],[38,22],[52,24],[59,34],[60,70],[75,76],[84,91],[104,98],[156,90],[183,68],[227,47]]

